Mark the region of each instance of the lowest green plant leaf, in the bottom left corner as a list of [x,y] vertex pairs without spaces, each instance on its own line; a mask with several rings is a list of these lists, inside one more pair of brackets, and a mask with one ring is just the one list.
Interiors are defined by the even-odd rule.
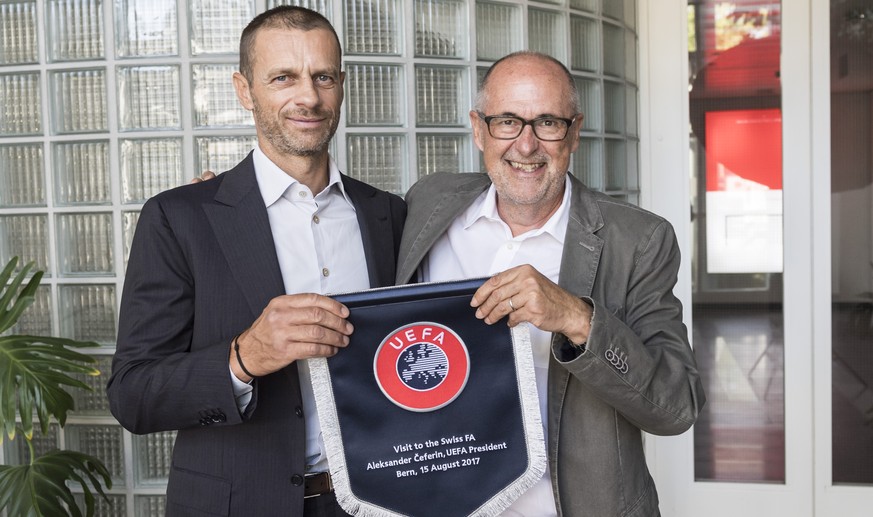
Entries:
[[88,516],[94,515],[94,492],[108,500],[103,487],[112,488],[109,471],[97,458],[54,450],[30,465],[0,465],[0,509],[16,516],[80,517],[82,512],[68,481],[81,486]]

